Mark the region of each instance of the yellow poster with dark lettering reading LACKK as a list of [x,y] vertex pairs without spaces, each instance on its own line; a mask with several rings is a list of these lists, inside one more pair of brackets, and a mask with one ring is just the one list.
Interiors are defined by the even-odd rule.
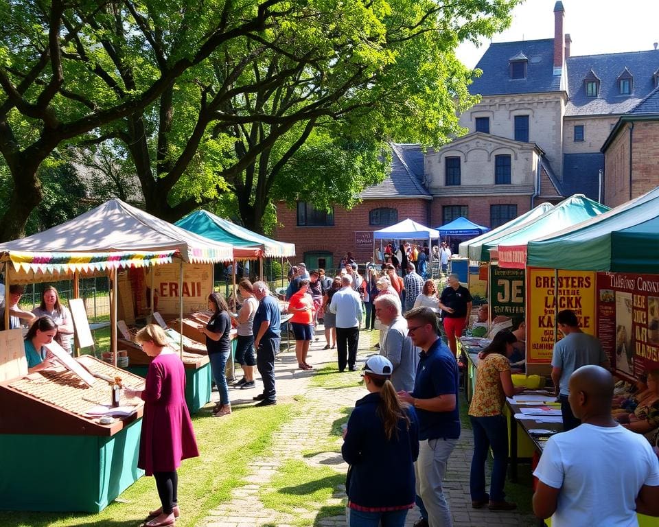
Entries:
[[[527,268],[527,364],[546,364],[556,340],[556,314],[572,309],[579,327],[590,335],[597,334],[595,317],[595,273],[591,271],[558,271]],[[555,338],[556,335],[556,338]]]

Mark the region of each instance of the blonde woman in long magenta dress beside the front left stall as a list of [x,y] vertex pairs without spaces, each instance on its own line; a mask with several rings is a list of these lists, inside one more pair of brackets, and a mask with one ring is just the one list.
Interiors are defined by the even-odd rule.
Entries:
[[153,519],[145,525],[174,525],[181,515],[176,469],[181,460],[199,455],[185,405],[185,371],[181,359],[167,346],[165,332],[159,326],[144,327],[135,340],[144,353],[153,357],[144,389],[126,389],[126,397],[141,397],[144,401],[137,466],[147,476],[154,476],[161,501],[161,507],[149,513]]

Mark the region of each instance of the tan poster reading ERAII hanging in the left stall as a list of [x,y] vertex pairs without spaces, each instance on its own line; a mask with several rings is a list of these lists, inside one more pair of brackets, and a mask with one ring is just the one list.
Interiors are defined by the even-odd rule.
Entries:
[[[178,314],[179,297],[183,294],[183,313],[208,309],[208,295],[213,291],[213,264],[183,264],[183,290],[179,291],[179,264],[152,268],[157,308],[163,314]],[[146,285],[151,277],[146,277]]]

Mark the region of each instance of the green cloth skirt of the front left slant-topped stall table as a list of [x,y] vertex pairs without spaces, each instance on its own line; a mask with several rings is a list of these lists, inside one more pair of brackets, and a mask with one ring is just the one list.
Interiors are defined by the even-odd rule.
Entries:
[[0,434],[0,508],[98,513],[144,475],[141,419],[111,437]]

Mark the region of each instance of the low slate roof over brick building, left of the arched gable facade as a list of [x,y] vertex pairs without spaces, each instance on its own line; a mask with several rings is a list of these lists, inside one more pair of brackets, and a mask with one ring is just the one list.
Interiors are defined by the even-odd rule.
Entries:
[[391,172],[382,183],[372,185],[360,192],[364,200],[386,198],[432,199],[421,184],[424,178],[424,152],[420,145],[390,143]]

